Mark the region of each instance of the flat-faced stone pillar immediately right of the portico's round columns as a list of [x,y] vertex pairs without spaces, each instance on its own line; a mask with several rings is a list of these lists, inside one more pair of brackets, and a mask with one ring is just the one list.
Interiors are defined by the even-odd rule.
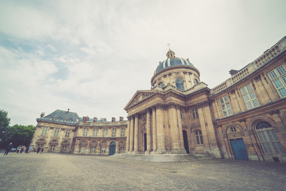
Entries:
[[166,153],[165,133],[163,126],[163,104],[156,104],[156,128],[157,128],[157,154]]

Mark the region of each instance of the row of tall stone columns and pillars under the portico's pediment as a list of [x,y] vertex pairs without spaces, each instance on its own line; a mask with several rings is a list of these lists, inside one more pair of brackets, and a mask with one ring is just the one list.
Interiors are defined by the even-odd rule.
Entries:
[[[142,113],[140,113],[142,112]],[[186,153],[184,149],[184,141],[182,135],[182,124],[180,120],[180,105],[170,102],[168,104],[157,103],[146,108],[143,111],[129,115],[127,123],[127,141],[125,153],[129,154],[143,154],[144,148],[138,148],[138,135],[141,132],[139,128],[139,119],[142,114],[146,113],[146,142],[147,150],[145,154],[164,154],[166,153],[166,140],[171,142],[171,153],[183,154]],[[168,119],[164,119],[164,112],[168,113]],[[151,124],[152,115],[152,124]],[[152,127],[152,132],[151,132]],[[169,128],[168,134],[170,138],[166,137],[165,129]],[[152,135],[151,135],[152,134]],[[153,138],[153,139],[152,139]],[[144,140],[141,140],[144,142]],[[153,147],[152,147],[153,142]],[[142,144],[143,145],[143,144]],[[153,148],[153,149],[152,149]]]

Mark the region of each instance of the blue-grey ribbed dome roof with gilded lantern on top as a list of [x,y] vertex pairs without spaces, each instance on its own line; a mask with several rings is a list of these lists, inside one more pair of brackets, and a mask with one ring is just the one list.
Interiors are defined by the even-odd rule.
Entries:
[[169,49],[167,52],[167,59],[164,60],[163,62],[160,62],[156,70],[154,71],[154,74],[157,73],[158,71],[166,68],[166,67],[171,67],[175,65],[188,65],[194,67],[192,63],[190,63],[189,59],[184,59],[184,58],[179,58],[175,56],[175,53]]

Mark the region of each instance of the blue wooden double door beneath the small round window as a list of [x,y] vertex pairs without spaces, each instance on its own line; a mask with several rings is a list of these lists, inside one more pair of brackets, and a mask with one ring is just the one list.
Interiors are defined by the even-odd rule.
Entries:
[[242,138],[231,139],[231,147],[233,148],[233,153],[236,160],[249,160],[247,156],[247,151]]

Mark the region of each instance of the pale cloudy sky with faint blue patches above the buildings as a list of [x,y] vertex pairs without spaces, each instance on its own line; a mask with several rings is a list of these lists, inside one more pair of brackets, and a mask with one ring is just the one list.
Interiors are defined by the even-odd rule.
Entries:
[[119,120],[170,48],[213,88],[286,35],[286,1],[0,1],[0,109]]

